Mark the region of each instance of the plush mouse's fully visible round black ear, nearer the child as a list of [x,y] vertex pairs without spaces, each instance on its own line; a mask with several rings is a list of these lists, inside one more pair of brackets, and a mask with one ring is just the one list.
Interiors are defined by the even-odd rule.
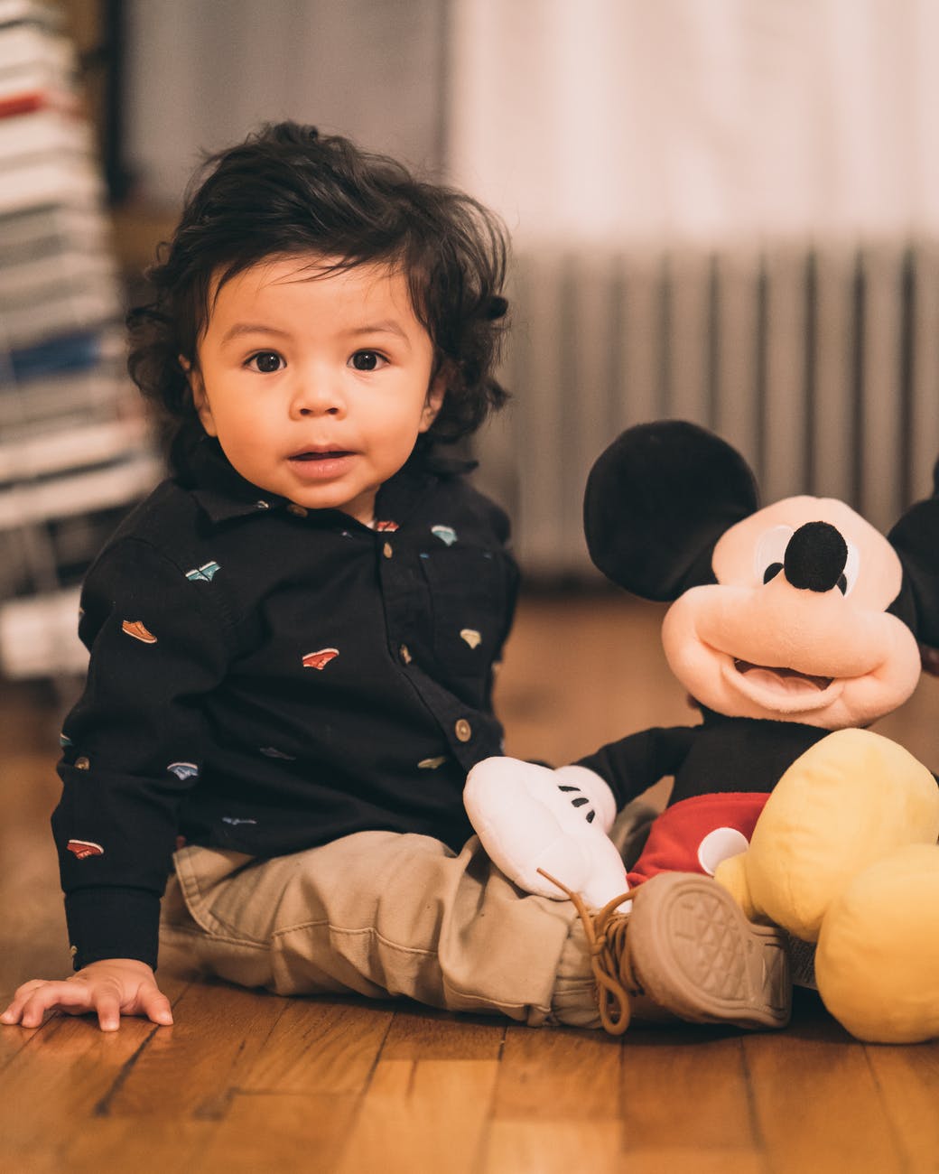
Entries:
[[714,582],[711,553],[758,506],[747,461],[683,420],[627,429],[587,479],[583,528],[607,578],[644,599],[673,600]]

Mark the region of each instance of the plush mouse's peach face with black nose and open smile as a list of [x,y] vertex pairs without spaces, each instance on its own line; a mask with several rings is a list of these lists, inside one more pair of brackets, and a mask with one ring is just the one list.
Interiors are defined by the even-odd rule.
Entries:
[[728,529],[716,583],[666,615],[671,670],[703,706],[734,717],[866,726],[901,704],[917,641],[886,608],[901,582],[890,542],[840,501],[789,498]]

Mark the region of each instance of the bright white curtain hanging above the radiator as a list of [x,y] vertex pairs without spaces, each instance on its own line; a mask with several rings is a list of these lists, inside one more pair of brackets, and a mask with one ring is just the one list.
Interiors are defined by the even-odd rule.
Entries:
[[939,230],[935,0],[453,0],[450,163],[525,244]]

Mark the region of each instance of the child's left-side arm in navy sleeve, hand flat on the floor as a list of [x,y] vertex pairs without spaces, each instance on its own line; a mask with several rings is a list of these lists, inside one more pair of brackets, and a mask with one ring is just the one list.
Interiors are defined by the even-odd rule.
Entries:
[[80,634],[92,659],[63,729],[52,819],[76,974],[26,984],[35,993],[21,989],[11,1010],[31,1020],[49,1006],[96,1010],[102,1026],[165,1010],[154,980],[160,902],[204,757],[204,697],[230,656],[216,585],[187,566],[130,538],[86,580]]

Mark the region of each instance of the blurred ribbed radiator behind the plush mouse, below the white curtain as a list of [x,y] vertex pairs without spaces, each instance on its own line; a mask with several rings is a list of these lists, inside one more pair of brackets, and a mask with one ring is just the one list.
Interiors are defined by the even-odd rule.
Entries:
[[838,497],[879,527],[939,452],[939,242],[600,256],[521,252],[479,481],[531,579],[593,574],[587,472],[622,429],[695,420],[763,500]]

